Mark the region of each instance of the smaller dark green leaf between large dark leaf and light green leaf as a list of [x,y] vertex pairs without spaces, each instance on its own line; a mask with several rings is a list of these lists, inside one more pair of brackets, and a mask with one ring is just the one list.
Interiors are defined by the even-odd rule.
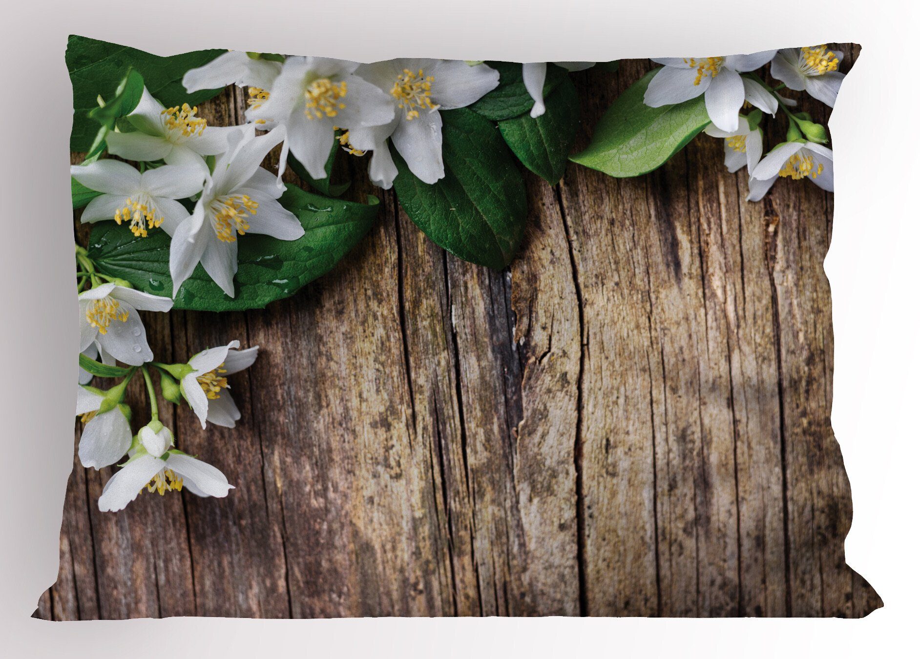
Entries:
[[555,186],[566,173],[579,125],[575,85],[565,78],[546,97],[546,112],[534,119],[524,113],[499,121],[501,136],[527,169]]

